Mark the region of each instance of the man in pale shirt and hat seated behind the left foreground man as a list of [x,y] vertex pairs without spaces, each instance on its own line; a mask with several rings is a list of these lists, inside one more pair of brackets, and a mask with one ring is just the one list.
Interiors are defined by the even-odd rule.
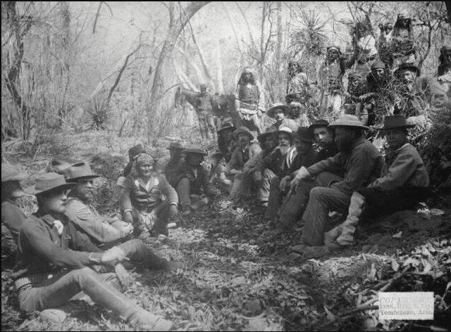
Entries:
[[66,215],[78,230],[89,236],[95,245],[123,241],[133,231],[133,226],[118,218],[102,217],[94,208],[94,174],[86,162],[68,167],[64,176],[66,181],[76,186],[70,191],[67,200]]

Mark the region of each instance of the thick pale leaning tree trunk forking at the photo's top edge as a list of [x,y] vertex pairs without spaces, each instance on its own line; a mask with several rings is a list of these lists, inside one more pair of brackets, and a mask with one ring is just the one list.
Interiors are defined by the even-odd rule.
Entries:
[[155,143],[154,138],[156,137],[156,126],[158,124],[155,123],[154,119],[156,119],[156,115],[161,111],[162,101],[164,93],[164,75],[163,72],[170,72],[168,69],[168,65],[171,63],[169,59],[172,56],[175,42],[178,39],[178,35],[182,32],[185,25],[192,18],[192,16],[199,11],[200,8],[209,4],[209,1],[192,1],[190,2],[185,9],[180,12],[176,9],[175,3],[168,3],[168,11],[169,11],[169,26],[168,26],[168,35],[163,43],[163,47],[161,48],[160,55],[158,58],[158,62],[156,63],[154,82],[152,84],[151,94],[150,94],[150,105],[147,107],[147,141],[148,143]]

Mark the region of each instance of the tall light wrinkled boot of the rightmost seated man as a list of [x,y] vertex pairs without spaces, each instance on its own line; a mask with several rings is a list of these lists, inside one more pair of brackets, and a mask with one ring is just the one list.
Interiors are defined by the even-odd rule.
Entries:
[[364,203],[364,196],[354,191],[345,222],[324,234],[326,245],[332,246],[334,242],[338,245],[351,245],[354,242],[355,227],[359,223]]

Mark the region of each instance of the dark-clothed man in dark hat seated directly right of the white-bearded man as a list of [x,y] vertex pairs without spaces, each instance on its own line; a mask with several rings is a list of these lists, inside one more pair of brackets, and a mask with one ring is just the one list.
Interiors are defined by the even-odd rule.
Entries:
[[[285,198],[290,189],[290,181],[295,177],[296,171],[302,166],[309,167],[315,162],[316,153],[312,146],[314,139],[311,130],[307,127],[299,127],[294,140],[297,155],[292,161],[290,168],[284,172],[285,176],[272,179],[265,219],[276,219],[277,222],[279,208],[283,203],[283,198]],[[285,225],[281,224],[280,226]]]

